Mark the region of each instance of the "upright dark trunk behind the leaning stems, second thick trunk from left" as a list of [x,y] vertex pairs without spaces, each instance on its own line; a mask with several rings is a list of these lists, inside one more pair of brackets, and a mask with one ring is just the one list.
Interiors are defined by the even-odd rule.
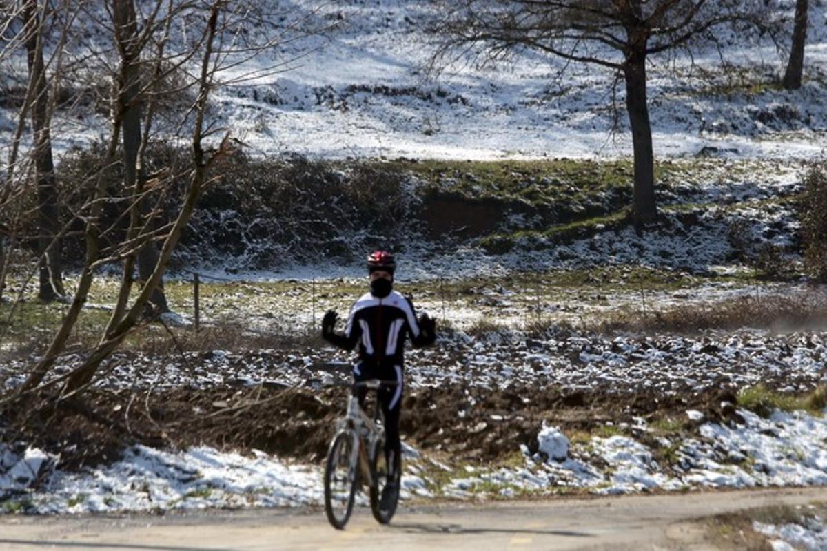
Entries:
[[[133,190],[136,197],[140,197],[146,186],[146,168],[138,162],[138,153],[141,149],[141,118],[143,105],[141,99],[141,59],[140,49],[136,45],[137,22],[135,6],[132,0],[114,0],[112,12],[117,29],[115,36],[118,48],[121,53],[122,79],[120,107],[123,110],[123,164],[124,164],[124,186],[127,190]],[[149,211],[146,199],[141,199],[136,207],[141,218]],[[138,222],[141,226],[141,222]],[[146,226],[146,231],[151,231],[154,224]],[[146,283],[155,264],[158,263],[158,248],[154,242],[144,245],[138,254],[138,278]],[[131,270],[131,262],[125,264]],[[131,273],[125,277],[131,277]],[[152,314],[169,311],[164,294],[164,283],[161,281],[156,287],[147,304],[147,310]]]

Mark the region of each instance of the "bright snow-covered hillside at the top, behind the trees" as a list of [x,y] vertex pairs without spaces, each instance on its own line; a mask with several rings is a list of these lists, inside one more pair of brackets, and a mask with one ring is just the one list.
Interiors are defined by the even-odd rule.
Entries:
[[[323,35],[290,41],[225,75],[231,79],[287,62],[277,74],[218,89],[213,116],[256,154],[299,152],[330,158],[413,157],[510,159],[630,154],[624,130],[623,87],[614,124],[614,74],[566,64],[533,52],[512,63],[480,68],[456,64],[434,77],[426,70],[433,38],[420,23],[435,17],[416,0],[270,2],[308,21]],[[270,6],[270,4],[266,4]],[[278,5],[277,9],[275,6]],[[778,90],[782,54],[774,46],[734,44],[721,67],[717,51],[688,59],[651,60],[649,100],[655,154],[696,154],[705,147],[735,157],[811,157],[827,131],[827,26],[824,2],[810,7],[805,84]],[[80,40],[84,49],[112,55],[108,36]],[[6,75],[25,85],[25,62]],[[699,78],[701,69],[712,82]],[[7,71],[10,69],[7,69]],[[679,76],[678,76],[679,75]],[[0,144],[16,122],[0,108]],[[57,112],[55,148],[84,145],[105,133],[92,106]],[[5,149],[5,148],[4,148]]]

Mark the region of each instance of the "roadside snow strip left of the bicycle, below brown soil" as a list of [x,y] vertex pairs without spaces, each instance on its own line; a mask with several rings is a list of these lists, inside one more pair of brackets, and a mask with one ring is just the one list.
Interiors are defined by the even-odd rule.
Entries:
[[[302,506],[323,499],[315,466],[284,463],[263,452],[251,456],[198,447],[164,452],[135,446],[111,465],[80,473],[43,472],[42,453],[28,449],[0,477],[6,512],[164,511],[208,507]],[[33,483],[29,473],[38,473]],[[2,509],[0,509],[2,511]]]

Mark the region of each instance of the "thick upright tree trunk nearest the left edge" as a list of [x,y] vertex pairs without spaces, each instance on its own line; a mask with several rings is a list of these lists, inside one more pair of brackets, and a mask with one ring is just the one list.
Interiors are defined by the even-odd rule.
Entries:
[[41,255],[40,291],[44,301],[65,294],[60,259],[60,217],[57,203],[55,163],[52,159],[49,121],[49,92],[46,87],[45,67],[41,42],[41,25],[35,0],[26,2],[26,51],[31,82],[34,83],[34,105],[31,126],[34,131],[34,155],[37,181],[37,249]]

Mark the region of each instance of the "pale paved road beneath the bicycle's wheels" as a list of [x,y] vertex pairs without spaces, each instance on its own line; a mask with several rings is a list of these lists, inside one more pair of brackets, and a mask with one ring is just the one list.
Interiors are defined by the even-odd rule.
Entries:
[[0,517],[0,549],[710,549],[691,520],[827,501],[827,488],[403,507],[390,527],[357,509],[347,530],[322,511]]

